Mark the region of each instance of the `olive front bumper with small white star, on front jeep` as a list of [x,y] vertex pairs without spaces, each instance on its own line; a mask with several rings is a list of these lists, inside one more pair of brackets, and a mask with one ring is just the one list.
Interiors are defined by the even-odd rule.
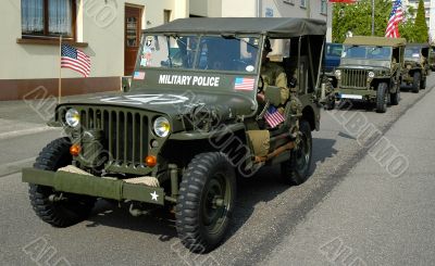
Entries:
[[164,190],[121,179],[86,176],[67,172],[50,172],[24,168],[22,180],[28,183],[52,187],[60,192],[92,195],[117,201],[133,200],[164,205]]

